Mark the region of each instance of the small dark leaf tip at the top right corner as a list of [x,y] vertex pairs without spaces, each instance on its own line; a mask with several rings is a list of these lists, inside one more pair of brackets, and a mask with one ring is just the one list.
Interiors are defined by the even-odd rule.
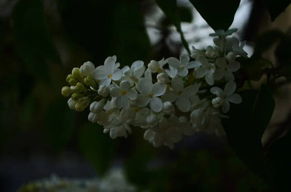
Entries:
[[271,16],[271,21],[275,19],[285,11],[285,9],[290,5],[290,0],[265,0],[266,7]]

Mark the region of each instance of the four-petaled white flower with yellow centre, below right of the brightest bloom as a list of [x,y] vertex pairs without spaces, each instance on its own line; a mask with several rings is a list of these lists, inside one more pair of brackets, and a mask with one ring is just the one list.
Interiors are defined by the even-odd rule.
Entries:
[[128,81],[121,81],[119,87],[111,88],[110,94],[112,97],[116,97],[116,107],[118,109],[122,107],[124,110],[129,109],[129,100],[135,100],[137,97],[137,92],[130,89]]

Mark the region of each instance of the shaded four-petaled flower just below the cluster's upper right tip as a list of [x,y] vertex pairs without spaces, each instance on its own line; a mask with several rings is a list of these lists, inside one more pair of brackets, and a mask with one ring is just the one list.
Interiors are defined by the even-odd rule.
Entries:
[[225,58],[217,58],[216,65],[219,69],[216,69],[213,74],[214,80],[220,80],[225,77],[226,81],[233,81],[234,75],[232,72],[238,71],[241,67],[241,64],[238,61],[232,61],[227,65]]

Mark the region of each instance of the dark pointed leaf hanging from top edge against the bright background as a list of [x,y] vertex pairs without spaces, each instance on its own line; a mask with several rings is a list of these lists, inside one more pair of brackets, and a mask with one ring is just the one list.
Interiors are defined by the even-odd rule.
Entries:
[[228,30],[241,0],[190,0],[213,30]]

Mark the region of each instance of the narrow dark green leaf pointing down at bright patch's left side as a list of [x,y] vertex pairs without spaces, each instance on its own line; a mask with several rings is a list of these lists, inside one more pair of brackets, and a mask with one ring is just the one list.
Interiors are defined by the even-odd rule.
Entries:
[[156,0],[158,6],[162,9],[163,13],[174,23],[177,31],[180,33],[181,41],[187,52],[190,54],[189,44],[185,40],[183,31],[181,30],[181,17],[177,5],[177,0]]

